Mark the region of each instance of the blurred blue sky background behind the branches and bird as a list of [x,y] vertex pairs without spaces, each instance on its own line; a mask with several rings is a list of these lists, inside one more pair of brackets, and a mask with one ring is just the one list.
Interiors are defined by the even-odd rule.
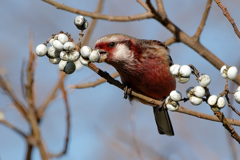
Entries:
[[[97,0],[58,2],[86,11],[94,11],[98,3]],[[240,1],[223,0],[222,2],[240,28]],[[163,3],[169,19],[188,35],[194,35],[207,1],[164,0]],[[102,11],[103,14],[108,15],[133,15],[142,12],[145,12],[145,9],[135,0],[105,0]],[[34,34],[34,48],[59,31],[70,33],[77,41],[79,30],[73,24],[75,16],[76,14],[58,10],[38,0],[14,2],[0,0],[0,67],[6,69],[14,92],[25,104],[21,92],[20,73],[23,60],[28,59],[29,33]],[[86,18],[91,22],[91,18]],[[123,33],[136,38],[160,41],[172,37],[167,29],[152,19],[134,22],[99,20],[87,45],[94,47],[98,38],[110,33]],[[212,3],[200,42],[226,64],[239,66],[240,40],[215,2]],[[225,80],[221,78],[219,71],[191,48],[182,43],[174,43],[169,48],[175,63],[193,64],[201,73],[211,76],[212,82],[209,88],[212,94],[219,94],[224,89]],[[97,66],[109,73],[115,72],[107,64],[97,64]],[[83,67],[80,71],[67,76],[66,86],[91,82],[98,78],[99,76],[90,69]],[[57,81],[57,65],[50,64],[46,57],[38,58],[34,86],[37,104],[42,104]],[[196,85],[198,83],[192,76],[187,84],[178,83],[177,90],[186,96],[185,90]],[[233,89],[235,91],[235,84]],[[67,91],[71,112],[69,148],[66,155],[55,159],[139,159],[133,134],[144,159],[234,159],[229,143],[230,135],[221,123],[170,112],[175,136],[163,136],[158,134],[152,108],[137,102],[131,105],[128,100],[123,99],[123,91],[112,85],[104,83],[88,89],[67,88]],[[0,102],[0,111],[4,112],[6,120],[24,133],[29,133],[28,124],[3,92],[0,93]],[[192,106],[188,102],[181,105],[213,114],[210,107],[204,103],[200,106]],[[236,102],[233,105],[240,109]],[[131,112],[131,109],[134,112]],[[232,112],[227,107],[222,111],[227,117]],[[235,113],[231,116],[239,119]],[[65,117],[64,102],[59,96],[48,107],[40,126],[47,149],[52,153],[57,153],[63,148],[66,132]],[[131,125],[136,126],[135,133],[132,132]],[[234,128],[240,133],[239,127]],[[236,150],[240,149],[235,140],[232,145]],[[20,135],[0,124],[1,160],[25,159],[26,147]],[[240,158],[239,152],[235,154]],[[33,150],[32,159],[41,159],[38,149]]]

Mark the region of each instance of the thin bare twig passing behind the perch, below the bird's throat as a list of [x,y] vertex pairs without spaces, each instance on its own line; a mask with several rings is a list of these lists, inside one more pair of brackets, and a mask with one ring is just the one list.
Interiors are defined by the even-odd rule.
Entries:
[[[119,73],[118,72],[115,72],[113,74],[111,74],[111,77],[112,78],[116,78],[119,76]],[[104,78],[100,78],[100,79],[97,79],[96,81],[94,82],[88,82],[88,83],[83,83],[83,84],[77,84],[77,85],[72,85],[72,86],[69,86],[70,88],[75,88],[75,89],[81,89],[81,88],[89,88],[89,87],[96,87],[97,85],[100,85],[104,82],[106,82],[107,80],[104,79]]]

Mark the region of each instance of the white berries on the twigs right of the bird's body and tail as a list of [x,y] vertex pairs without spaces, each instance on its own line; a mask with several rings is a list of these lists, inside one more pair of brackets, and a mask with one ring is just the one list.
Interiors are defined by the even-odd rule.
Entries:
[[[178,82],[186,83],[190,79],[190,74],[193,73],[191,67],[187,65],[180,66],[179,64],[174,64],[170,67],[170,72],[177,78]],[[237,77],[238,70],[235,66],[224,65],[220,73],[223,78],[234,80]],[[206,101],[211,107],[217,107],[222,109],[226,105],[226,100],[223,98],[223,95],[210,95],[206,94],[208,91],[207,86],[210,84],[211,79],[208,75],[202,74],[201,76],[197,75],[197,80],[200,86],[189,87],[186,90],[186,95],[188,98],[182,99],[182,95],[179,91],[172,91],[170,95],[166,98],[165,103],[166,107],[171,111],[176,111],[179,108],[179,101],[189,100],[193,105],[200,105],[202,101]],[[204,99],[204,97],[206,97]],[[240,87],[234,93],[234,97],[237,103],[240,103]]]

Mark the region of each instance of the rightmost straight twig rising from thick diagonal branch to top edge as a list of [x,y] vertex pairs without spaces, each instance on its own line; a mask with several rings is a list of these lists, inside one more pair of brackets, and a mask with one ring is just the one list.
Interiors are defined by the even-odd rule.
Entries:
[[204,13],[203,13],[202,20],[201,20],[201,22],[200,22],[200,24],[199,24],[199,26],[198,26],[198,29],[197,29],[195,35],[193,36],[193,39],[194,39],[195,41],[199,41],[199,37],[200,37],[200,35],[201,35],[201,33],[202,33],[203,27],[204,27],[205,22],[206,22],[206,20],[207,20],[207,17],[208,17],[210,8],[211,8],[211,4],[212,4],[212,0],[208,0],[208,1],[207,1],[206,8],[205,8],[205,11],[204,11]]

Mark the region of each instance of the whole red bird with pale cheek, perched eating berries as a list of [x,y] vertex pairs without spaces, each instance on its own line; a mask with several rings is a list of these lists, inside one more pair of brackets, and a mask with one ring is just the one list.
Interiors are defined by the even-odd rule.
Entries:
[[[175,78],[169,69],[173,64],[169,49],[159,41],[109,34],[98,39],[95,48],[100,51],[101,61],[112,65],[122,83],[137,93],[164,100],[176,88]],[[173,136],[167,110],[155,106],[153,111],[159,133]]]

